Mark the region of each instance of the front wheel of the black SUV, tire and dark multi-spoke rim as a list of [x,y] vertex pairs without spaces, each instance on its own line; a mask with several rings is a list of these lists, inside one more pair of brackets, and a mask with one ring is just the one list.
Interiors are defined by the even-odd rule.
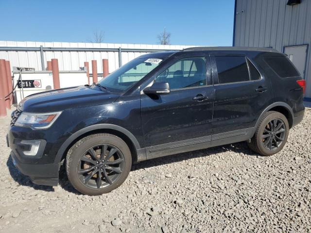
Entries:
[[109,133],[82,138],[69,149],[66,157],[69,182],[79,192],[91,196],[119,187],[131,166],[132,156],[127,144]]

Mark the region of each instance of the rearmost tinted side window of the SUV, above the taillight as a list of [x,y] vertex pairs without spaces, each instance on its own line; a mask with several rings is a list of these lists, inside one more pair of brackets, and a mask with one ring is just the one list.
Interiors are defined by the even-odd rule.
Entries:
[[281,78],[300,76],[287,57],[265,57],[264,59]]

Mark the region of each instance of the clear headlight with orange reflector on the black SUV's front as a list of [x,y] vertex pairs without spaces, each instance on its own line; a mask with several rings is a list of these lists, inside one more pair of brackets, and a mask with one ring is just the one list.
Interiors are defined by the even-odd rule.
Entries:
[[21,113],[15,122],[16,126],[29,127],[35,130],[48,129],[62,112],[55,113]]

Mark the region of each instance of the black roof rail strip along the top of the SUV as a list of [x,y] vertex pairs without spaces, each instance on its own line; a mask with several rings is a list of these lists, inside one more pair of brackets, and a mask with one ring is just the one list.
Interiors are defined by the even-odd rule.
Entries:
[[272,48],[256,48],[256,47],[191,47],[182,51],[262,51],[262,52],[279,52]]

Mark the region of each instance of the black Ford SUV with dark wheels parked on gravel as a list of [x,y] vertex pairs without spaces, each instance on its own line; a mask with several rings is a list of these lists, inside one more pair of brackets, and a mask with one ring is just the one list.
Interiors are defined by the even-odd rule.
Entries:
[[34,183],[57,185],[64,164],[78,191],[100,195],[147,159],[240,141],[277,153],[303,118],[304,87],[273,49],[150,53],[98,83],[28,96],[12,114],[8,145]]

